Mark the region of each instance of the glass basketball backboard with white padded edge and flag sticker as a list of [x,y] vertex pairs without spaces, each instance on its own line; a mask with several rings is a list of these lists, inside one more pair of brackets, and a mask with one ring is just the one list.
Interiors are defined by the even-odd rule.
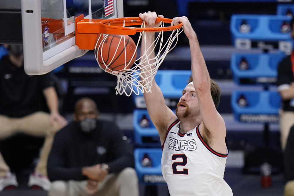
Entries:
[[84,55],[75,44],[75,17],[123,17],[123,0],[21,0],[24,66],[28,75],[50,72]]

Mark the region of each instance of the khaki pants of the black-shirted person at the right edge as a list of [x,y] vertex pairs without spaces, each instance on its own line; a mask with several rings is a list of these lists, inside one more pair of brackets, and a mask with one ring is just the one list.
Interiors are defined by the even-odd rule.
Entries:
[[294,125],[294,112],[280,110],[281,147],[285,150],[291,126]]

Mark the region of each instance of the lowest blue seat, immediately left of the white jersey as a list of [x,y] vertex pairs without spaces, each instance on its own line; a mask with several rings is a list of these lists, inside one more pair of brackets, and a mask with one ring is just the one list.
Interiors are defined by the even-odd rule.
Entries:
[[[141,164],[145,154],[151,158],[151,167],[144,167]],[[160,148],[137,148],[134,150],[135,169],[140,183],[145,183],[146,185],[165,183],[161,173],[161,155],[162,150]]]

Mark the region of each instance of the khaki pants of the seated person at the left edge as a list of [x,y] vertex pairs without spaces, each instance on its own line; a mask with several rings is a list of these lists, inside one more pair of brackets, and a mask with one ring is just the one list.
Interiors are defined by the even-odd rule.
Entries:
[[[0,139],[8,138],[16,133],[25,133],[37,137],[45,137],[40,160],[35,171],[47,176],[47,158],[51,151],[55,133],[61,128],[58,123],[50,124],[50,115],[45,112],[35,112],[22,118],[9,118],[0,115]],[[6,175],[9,166],[0,153],[0,177]]]

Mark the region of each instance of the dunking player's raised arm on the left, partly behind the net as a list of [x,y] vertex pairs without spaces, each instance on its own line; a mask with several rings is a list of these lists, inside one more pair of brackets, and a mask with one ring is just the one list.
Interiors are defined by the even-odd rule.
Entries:
[[[157,18],[157,14],[155,12],[148,13],[140,13],[139,17],[147,23],[147,27],[158,27],[159,24],[155,24],[155,20]],[[158,15],[158,17],[163,18],[162,15]],[[154,32],[146,32],[146,37],[143,35],[141,40],[141,62],[144,62],[143,65],[148,65],[154,62],[155,54],[154,54]],[[151,46],[151,47],[150,47]],[[146,53],[145,53],[146,51]],[[147,68],[148,69],[148,66]],[[149,71],[151,72],[152,67],[149,67]],[[144,71],[143,77],[147,80],[150,80],[150,76],[148,76],[148,70]],[[160,142],[163,144],[164,138],[166,135],[166,131],[168,126],[177,119],[176,115],[165,105],[163,94],[156,84],[155,80],[152,81],[151,92],[144,93],[144,99],[146,102],[146,107],[148,110],[148,114],[151,118],[152,123],[156,127],[159,136]]]

